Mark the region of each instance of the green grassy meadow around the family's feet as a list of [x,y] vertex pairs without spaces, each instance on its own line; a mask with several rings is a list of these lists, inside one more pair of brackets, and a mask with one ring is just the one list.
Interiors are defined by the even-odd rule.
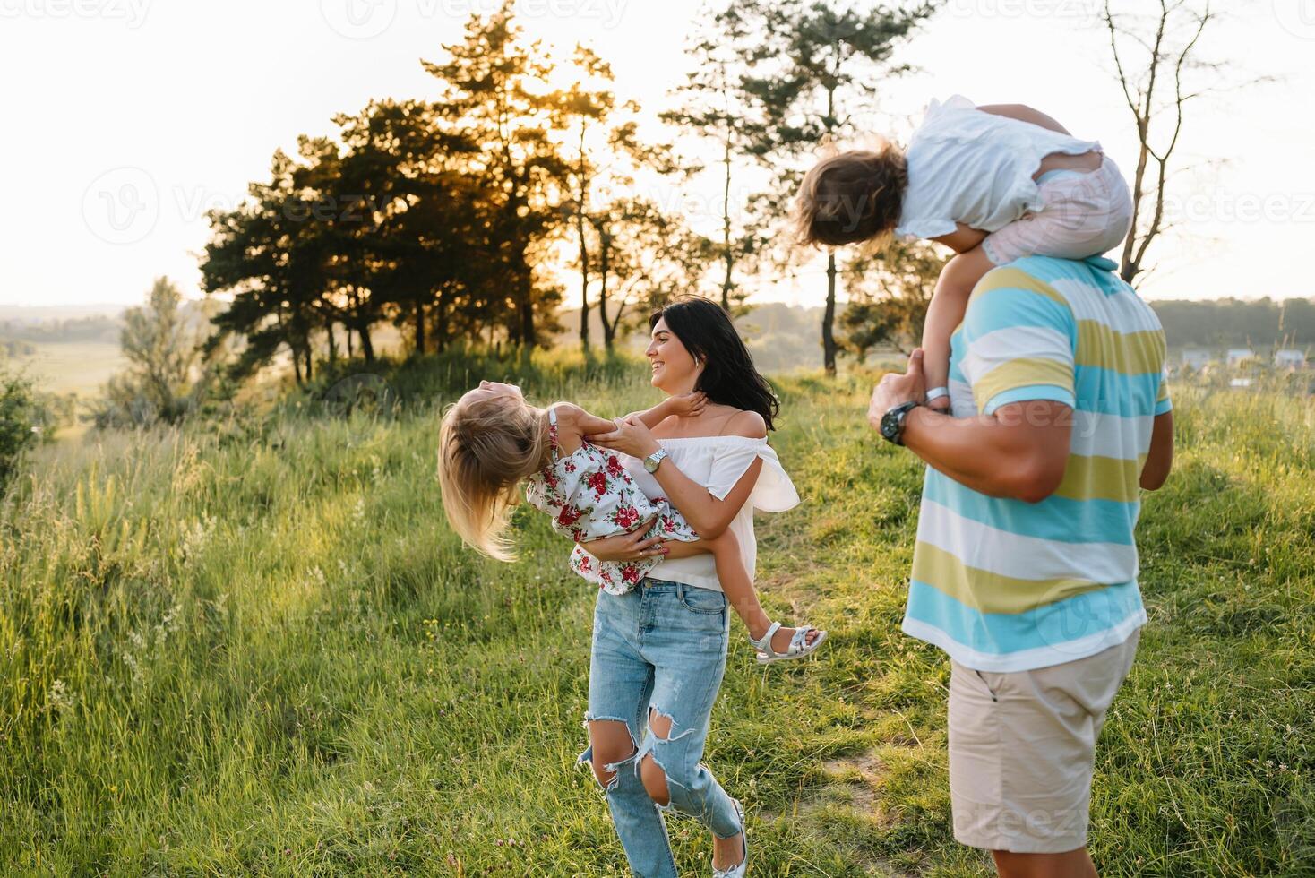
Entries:
[[[268,415],[42,450],[0,513],[4,874],[625,875],[585,747],[594,593],[547,522],[464,549],[435,407]],[[484,377],[514,376],[487,369]],[[534,398],[656,401],[559,363]],[[626,377],[633,375],[634,377]],[[755,875],[985,875],[949,835],[948,665],[899,632],[920,467],[871,379],[778,381],[803,503],[759,519],[769,611],[831,630],[760,669],[743,627],[706,761]],[[1177,392],[1139,530],[1151,622],[1098,751],[1109,875],[1315,873],[1315,405]],[[709,837],[671,821],[682,874]]]

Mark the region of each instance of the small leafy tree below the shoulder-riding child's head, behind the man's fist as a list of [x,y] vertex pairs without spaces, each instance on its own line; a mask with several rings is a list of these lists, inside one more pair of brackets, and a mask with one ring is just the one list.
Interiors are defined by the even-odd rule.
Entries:
[[849,302],[840,315],[840,347],[863,363],[868,351],[892,346],[907,354],[922,338],[936,279],[949,258],[924,242],[894,241],[844,267]]

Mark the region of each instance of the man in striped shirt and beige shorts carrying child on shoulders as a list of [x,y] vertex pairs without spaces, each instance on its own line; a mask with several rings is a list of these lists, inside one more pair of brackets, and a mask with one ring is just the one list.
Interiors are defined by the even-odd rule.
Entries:
[[990,271],[951,343],[953,417],[919,405],[920,351],[868,413],[930,464],[903,630],[949,653],[955,837],[1002,875],[1095,874],[1095,739],[1147,619],[1134,527],[1173,415],[1164,331],[1114,267]]

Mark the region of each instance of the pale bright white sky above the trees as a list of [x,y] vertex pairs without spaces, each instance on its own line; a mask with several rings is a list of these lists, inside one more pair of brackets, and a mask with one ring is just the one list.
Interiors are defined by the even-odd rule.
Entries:
[[[167,275],[199,296],[205,212],[241,202],[275,149],[330,134],[371,99],[433,97],[442,60],[496,0],[0,0],[0,305],[134,305]],[[689,70],[694,0],[519,0],[559,57],[592,45],[650,117]],[[1315,296],[1299,254],[1315,231],[1315,0],[1240,0],[1203,53],[1230,81],[1201,99],[1172,188],[1181,221],[1152,250],[1148,298]],[[880,83],[873,112],[906,139],[931,97],[1022,103],[1097,139],[1131,179],[1136,135],[1098,0],[945,0]],[[715,198],[679,197],[714,223]],[[709,205],[709,206],[704,206]],[[752,298],[815,305],[821,273],[755,283]]]

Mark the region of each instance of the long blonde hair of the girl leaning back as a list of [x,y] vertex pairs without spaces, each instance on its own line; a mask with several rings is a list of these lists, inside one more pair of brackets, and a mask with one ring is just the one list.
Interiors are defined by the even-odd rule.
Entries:
[[463,540],[514,559],[504,536],[521,480],[538,472],[548,446],[546,413],[505,397],[454,402],[438,431],[443,509]]

